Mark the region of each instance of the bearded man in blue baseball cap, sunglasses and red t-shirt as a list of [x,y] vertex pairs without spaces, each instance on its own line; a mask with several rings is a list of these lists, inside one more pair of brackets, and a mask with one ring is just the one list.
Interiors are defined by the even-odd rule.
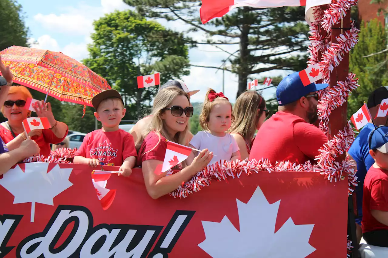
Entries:
[[268,158],[272,164],[288,160],[303,164],[319,154],[327,136],[314,126],[318,119],[317,91],[328,84],[303,86],[298,72],[285,77],[277,86],[278,112],[258,131],[249,159]]

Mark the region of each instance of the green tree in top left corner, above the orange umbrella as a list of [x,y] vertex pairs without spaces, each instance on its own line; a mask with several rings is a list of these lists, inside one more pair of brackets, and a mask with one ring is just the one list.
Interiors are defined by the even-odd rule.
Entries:
[[0,51],[10,46],[28,46],[28,28],[22,6],[15,0],[0,0]]

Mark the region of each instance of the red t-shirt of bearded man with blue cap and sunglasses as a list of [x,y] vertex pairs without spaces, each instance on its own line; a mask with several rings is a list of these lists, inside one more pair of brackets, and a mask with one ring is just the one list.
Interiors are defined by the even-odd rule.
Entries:
[[327,141],[318,127],[297,115],[279,111],[260,127],[249,160],[267,158],[272,164],[286,160],[313,163],[319,148]]

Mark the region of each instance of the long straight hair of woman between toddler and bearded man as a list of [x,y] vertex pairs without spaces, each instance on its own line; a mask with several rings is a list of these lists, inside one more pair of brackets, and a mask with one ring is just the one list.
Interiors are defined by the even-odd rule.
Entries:
[[233,113],[236,114],[236,120],[229,131],[240,134],[245,141],[251,141],[264,108],[265,100],[260,94],[256,91],[244,91],[234,104]]

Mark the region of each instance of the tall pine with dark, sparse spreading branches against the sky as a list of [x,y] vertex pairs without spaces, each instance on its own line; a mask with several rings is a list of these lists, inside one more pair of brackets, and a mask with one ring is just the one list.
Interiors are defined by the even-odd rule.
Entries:
[[[191,40],[193,44],[214,45],[229,57],[224,60],[225,71],[237,74],[239,96],[247,86],[247,80],[260,77],[272,70],[306,68],[308,26],[304,7],[252,8],[232,10],[221,18],[201,24],[200,0],[124,0],[135,7],[139,14],[149,18],[183,21],[189,24],[187,32],[202,31],[206,41]],[[225,45],[236,45],[230,53]],[[220,69],[223,67],[200,66]],[[197,66],[197,65],[194,65]],[[251,75],[251,78],[249,78]]]

